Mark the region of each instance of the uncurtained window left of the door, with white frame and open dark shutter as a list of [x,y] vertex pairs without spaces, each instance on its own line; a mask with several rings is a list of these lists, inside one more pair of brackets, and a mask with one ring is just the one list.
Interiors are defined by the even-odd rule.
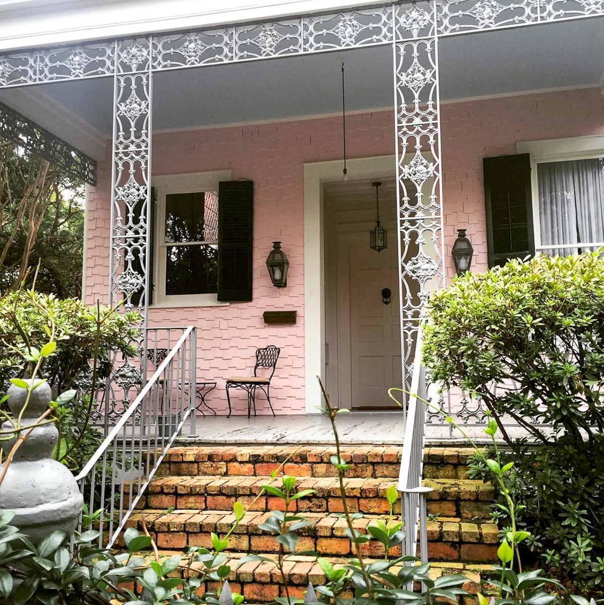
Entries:
[[153,303],[251,300],[251,181],[229,171],[154,177]]

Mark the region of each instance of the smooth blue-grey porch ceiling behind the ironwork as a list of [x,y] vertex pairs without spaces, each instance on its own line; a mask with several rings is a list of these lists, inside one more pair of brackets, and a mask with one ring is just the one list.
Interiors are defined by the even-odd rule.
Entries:
[[[392,105],[392,49],[365,48],[157,73],[153,128],[338,113],[342,60],[347,110]],[[445,102],[602,85],[604,18],[453,36],[442,41],[439,61]],[[112,93],[113,81],[98,79],[48,84],[25,93],[3,91],[0,100],[99,157],[100,143],[111,136]],[[53,111],[47,110],[49,104]],[[57,122],[61,110],[71,119]]]

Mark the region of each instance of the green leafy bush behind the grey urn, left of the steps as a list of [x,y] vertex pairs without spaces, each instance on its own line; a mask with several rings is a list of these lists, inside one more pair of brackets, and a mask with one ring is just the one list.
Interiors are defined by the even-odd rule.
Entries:
[[102,441],[102,434],[90,427],[96,404],[93,374],[99,384],[111,371],[112,356],[137,355],[133,341],[139,335],[139,319],[136,312],[120,314],[34,290],[0,298],[0,390],[8,388],[10,378],[30,376],[35,365],[30,353],[39,353],[50,340],[56,342],[39,375],[54,394],[78,390],[74,399],[54,410],[59,428],[54,457],[74,470],[88,462]]

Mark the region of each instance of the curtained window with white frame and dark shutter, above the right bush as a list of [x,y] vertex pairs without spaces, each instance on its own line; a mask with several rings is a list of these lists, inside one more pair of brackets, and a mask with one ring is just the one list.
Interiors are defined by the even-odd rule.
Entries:
[[484,159],[489,266],[604,245],[604,137],[518,143]]

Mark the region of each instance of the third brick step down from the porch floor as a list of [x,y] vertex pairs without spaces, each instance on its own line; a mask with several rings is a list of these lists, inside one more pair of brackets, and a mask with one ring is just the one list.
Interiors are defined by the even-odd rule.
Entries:
[[[278,552],[275,537],[258,528],[269,517],[269,512],[246,513],[237,530],[229,538],[231,552]],[[142,518],[149,533],[159,548],[187,548],[203,546],[211,548],[211,532],[221,538],[234,523],[234,515],[228,511],[200,512],[195,510],[175,510],[162,512],[143,510],[134,514],[128,525],[142,529]],[[298,551],[315,551],[322,557],[348,556],[353,553],[349,538],[346,537],[346,520],[335,514],[305,512],[304,518],[310,525],[300,531]],[[353,520],[353,526],[361,533],[376,521],[387,522],[386,515],[366,515]],[[430,560],[482,563],[496,558],[497,527],[490,522],[463,523],[459,519],[443,519],[429,522],[428,557]],[[361,551],[368,557],[383,557],[384,546],[376,540],[361,545]],[[401,548],[390,552],[400,556]]]

